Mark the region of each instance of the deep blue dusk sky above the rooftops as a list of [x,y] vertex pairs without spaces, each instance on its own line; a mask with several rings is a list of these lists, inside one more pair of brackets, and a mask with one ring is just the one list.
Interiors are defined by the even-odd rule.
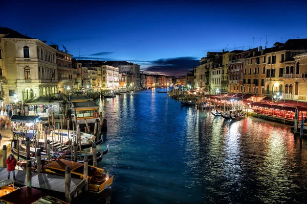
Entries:
[[208,51],[307,38],[304,1],[4,1],[1,26],[74,57],[125,60],[184,75]]

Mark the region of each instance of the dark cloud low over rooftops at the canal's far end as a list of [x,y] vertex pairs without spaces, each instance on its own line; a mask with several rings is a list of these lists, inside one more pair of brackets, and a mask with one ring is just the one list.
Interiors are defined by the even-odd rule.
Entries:
[[148,67],[142,68],[147,73],[159,73],[174,75],[176,77],[186,75],[193,66],[199,65],[196,57],[165,58],[150,61]]

